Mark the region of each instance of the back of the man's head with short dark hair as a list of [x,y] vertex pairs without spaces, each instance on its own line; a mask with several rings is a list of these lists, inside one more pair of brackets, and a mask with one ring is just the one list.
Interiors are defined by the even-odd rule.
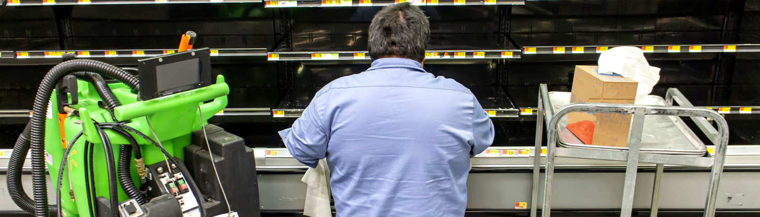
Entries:
[[372,60],[399,57],[425,60],[430,23],[419,7],[407,3],[388,5],[369,25],[369,55]]

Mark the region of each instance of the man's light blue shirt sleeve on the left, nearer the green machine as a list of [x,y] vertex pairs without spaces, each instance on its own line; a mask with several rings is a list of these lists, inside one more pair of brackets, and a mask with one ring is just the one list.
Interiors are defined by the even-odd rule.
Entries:
[[318,93],[301,117],[293,123],[293,127],[280,131],[280,137],[290,154],[312,168],[316,168],[318,161],[325,158],[328,149],[329,138],[321,119],[325,111],[323,95]]

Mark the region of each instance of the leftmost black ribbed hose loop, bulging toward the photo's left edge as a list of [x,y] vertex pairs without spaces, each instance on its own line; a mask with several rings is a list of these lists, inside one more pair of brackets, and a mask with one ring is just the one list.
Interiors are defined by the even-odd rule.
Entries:
[[[27,123],[24,132],[18,135],[14,151],[11,153],[11,159],[8,160],[8,175],[5,181],[8,184],[8,193],[16,205],[29,213],[34,212],[34,201],[24,191],[24,185],[21,182],[21,172],[24,170],[24,161],[27,160],[27,153],[30,147],[30,132],[32,129],[31,122]],[[55,205],[48,206],[50,213],[58,212]]]

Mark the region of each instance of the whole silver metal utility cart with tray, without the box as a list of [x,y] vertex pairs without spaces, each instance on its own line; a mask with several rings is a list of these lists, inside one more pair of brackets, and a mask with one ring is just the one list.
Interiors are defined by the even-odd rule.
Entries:
[[[693,105],[676,88],[667,91],[666,99],[650,95],[646,104],[568,104],[567,92],[549,92],[546,85],[540,85],[538,97],[538,119],[536,150],[541,148],[543,122],[546,120],[548,143],[546,153],[546,177],[543,193],[542,215],[549,217],[552,207],[552,184],[556,157],[583,158],[592,160],[625,161],[625,188],[623,189],[620,216],[631,216],[636,184],[638,163],[655,163],[654,190],[652,192],[651,216],[657,216],[657,202],[660,194],[660,180],[663,165],[712,167],[708,195],[705,202],[705,216],[715,213],[720,175],[723,173],[724,159],[728,145],[728,126],[723,116],[714,110]],[[681,106],[673,106],[676,101]],[[571,112],[632,114],[631,133],[628,147],[604,147],[582,144],[566,128],[565,116]],[[715,144],[715,154],[707,153],[705,144],[679,116],[689,116],[699,126],[709,140]],[[717,129],[705,118],[714,120]],[[642,137],[642,135],[647,135]],[[559,139],[558,139],[559,138]],[[536,216],[540,157],[534,161],[534,180],[530,216]]]

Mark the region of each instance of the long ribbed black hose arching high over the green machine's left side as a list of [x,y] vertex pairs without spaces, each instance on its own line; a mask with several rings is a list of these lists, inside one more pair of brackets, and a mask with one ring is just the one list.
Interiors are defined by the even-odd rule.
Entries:
[[[58,82],[70,73],[87,71],[100,73],[113,79],[124,82],[130,88],[138,91],[138,79],[135,76],[125,72],[119,67],[106,64],[98,60],[68,60],[61,64],[55,65],[40,83],[34,98],[34,107],[31,117],[31,155],[32,155],[32,184],[34,195],[34,212],[33,215],[38,217],[49,216],[49,205],[47,198],[47,181],[45,171],[45,113],[49,103],[50,95],[53,88]],[[22,154],[23,150],[16,150]],[[23,166],[23,164],[21,165]],[[17,169],[21,169],[18,166]],[[16,202],[14,200],[14,202]]]

